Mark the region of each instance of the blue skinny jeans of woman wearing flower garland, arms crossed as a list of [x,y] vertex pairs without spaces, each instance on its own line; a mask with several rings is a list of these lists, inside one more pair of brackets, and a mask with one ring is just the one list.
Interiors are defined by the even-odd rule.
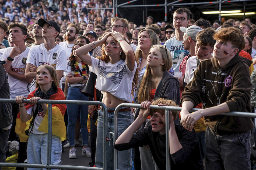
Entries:
[[[88,97],[83,95],[79,87],[69,87],[67,100],[81,100],[87,101]],[[68,112],[68,140],[70,146],[75,146],[75,125],[77,114],[80,112],[80,123],[81,123],[81,136],[83,146],[88,145],[88,130],[87,130],[87,119],[88,119],[88,105],[67,105]]]

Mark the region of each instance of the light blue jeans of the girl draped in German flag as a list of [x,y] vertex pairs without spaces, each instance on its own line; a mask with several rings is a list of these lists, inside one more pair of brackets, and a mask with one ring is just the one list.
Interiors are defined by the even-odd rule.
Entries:
[[[27,163],[47,164],[47,135],[29,134],[27,141]],[[62,142],[58,136],[52,135],[51,164],[61,163]],[[27,168],[28,170],[40,170],[41,168]]]

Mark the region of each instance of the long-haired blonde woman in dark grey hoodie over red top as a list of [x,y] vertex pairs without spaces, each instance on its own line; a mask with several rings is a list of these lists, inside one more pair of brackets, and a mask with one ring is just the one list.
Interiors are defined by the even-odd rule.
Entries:
[[[178,79],[169,72],[172,65],[171,53],[169,50],[167,51],[166,46],[153,45],[150,48],[146,60],[145,73],[139,80],[135,98],[136,103],[165,98],[175,101],[176,104],[180,104],[180,83]],[[139,109],[136,109],[134,111],[134,120],[138,114]],[[140,130],[144,128],[149,119],[139,128]],[[145,147],[139,147],[139,153],[141,162],[139,162],[138,159],[134,160],[134,166],[139,167],[141,163],[141,169],[155,169],[156,165],[153,165],[150,150],[146,150]],[[136,148],[134,155],[135,158],[139,157]]]

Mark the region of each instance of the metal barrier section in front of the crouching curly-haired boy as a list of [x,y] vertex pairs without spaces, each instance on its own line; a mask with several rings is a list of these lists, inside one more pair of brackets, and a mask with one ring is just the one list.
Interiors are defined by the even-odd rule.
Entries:
[[[142,108],[141,104],[131,104],[131,103],[122,103],[118,105],[115,108],[114,112],[114,138],[113,142],[117,140],[117,134],[118,134],[118,127],[117,127],[117,113],[120,108],[122,107],[131,107],[131,108]],[[150,109],[160,109],[160,110],[165,110],[165,135],[166,135],[166,169],[170,170],[170,154],[169,154],[169,128],[170,128],[170,119],[169,119],[169,110],[174,110],[174,111],[181,111],[181,107],[174,107],[174,106],[157,106],[157,105],[150,105]],[[189,112],[195,112],[197,108],[191,109]],[[241,116],[241,117],[256,117],[256,113],[248,113],[248,112],[227,112],[227,113],[222,113],[221,115],[226,115],[226,116]],[[118,169],[118,164],[117,164],[117,150],[114,149],[114,170]]]

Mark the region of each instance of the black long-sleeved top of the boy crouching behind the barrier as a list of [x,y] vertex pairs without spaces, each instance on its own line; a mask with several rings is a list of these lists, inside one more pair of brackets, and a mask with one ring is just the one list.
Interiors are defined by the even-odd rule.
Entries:
[[[204,169],[202,151],[195,130],[185,130],[181,125],[175,125],[176,134],[182,148],[171,154],[171,169]],[[166,169],[165,135],[153,132],[152,126],[144,128],[132,136],[129,143],[114,144],[117,150],[127,150],[132,147],[149,145],[152,156],[160,169]]]

